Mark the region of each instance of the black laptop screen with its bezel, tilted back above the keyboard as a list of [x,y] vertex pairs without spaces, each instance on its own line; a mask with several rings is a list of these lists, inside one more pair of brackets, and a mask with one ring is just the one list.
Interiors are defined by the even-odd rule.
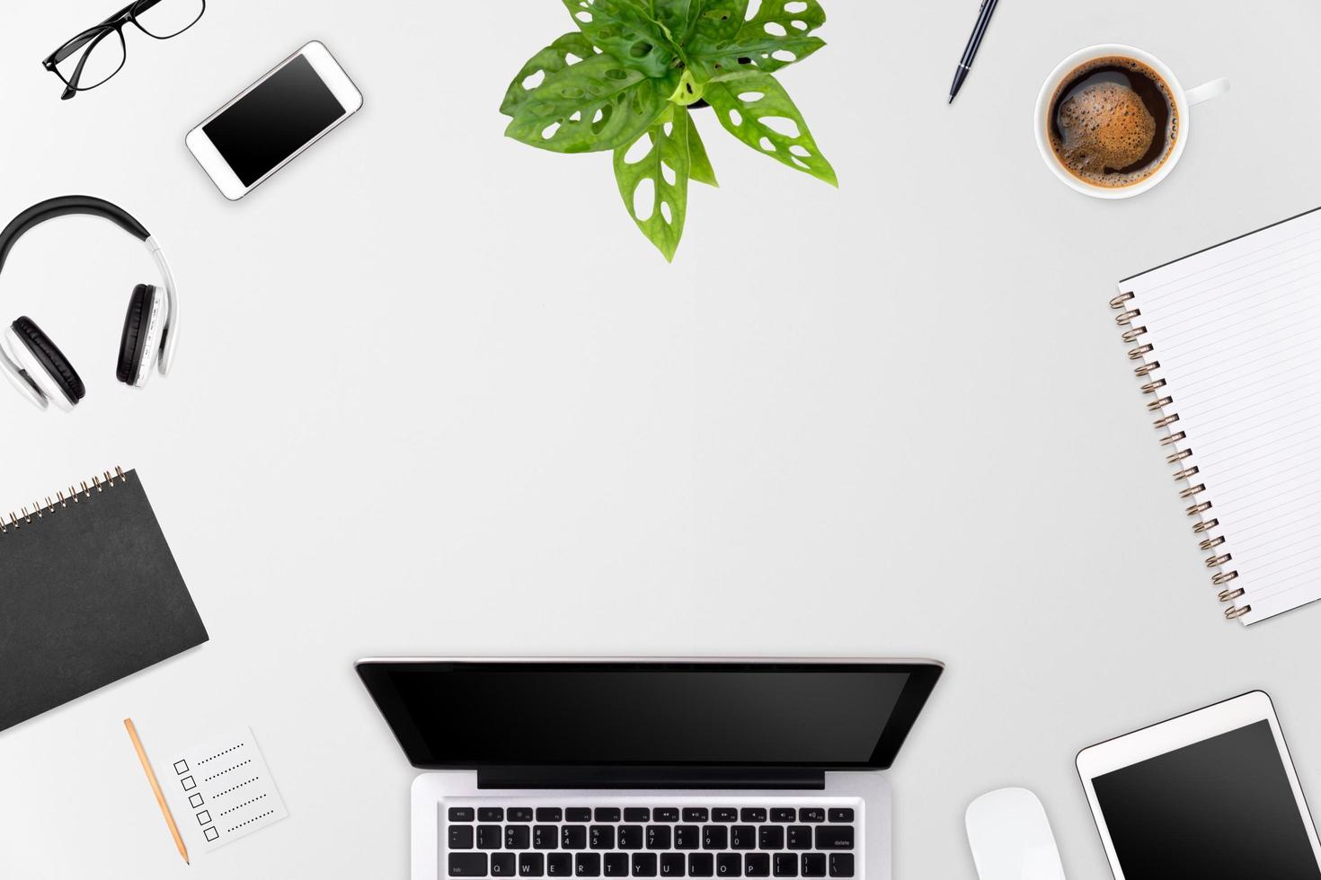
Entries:
[[939,665],[363,661],[427,768],[888,767]]

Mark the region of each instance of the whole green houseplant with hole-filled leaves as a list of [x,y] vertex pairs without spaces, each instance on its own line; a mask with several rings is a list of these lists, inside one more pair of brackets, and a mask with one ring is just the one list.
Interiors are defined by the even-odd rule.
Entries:
[[[752,0],[756,4],[756,0]],[[579,29],[510,83],[505,133],[555,153],[614,153],[620,195],[667,260],[688,181],[716,186],[690,108],[758,153],[838,186],[774,71],[823,45],[818,0],[561,0]],[[650,195],[650,198],[647,198]]]

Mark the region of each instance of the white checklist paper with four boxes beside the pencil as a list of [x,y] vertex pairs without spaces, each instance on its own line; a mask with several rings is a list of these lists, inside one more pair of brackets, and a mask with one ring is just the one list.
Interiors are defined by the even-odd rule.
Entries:
[[288,815],[250,727],[176,752],[156,776],[190,854]]

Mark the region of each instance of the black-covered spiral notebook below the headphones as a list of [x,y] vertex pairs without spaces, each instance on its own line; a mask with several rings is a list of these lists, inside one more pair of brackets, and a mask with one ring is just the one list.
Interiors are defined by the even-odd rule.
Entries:
[[0,519],[0,730],[206,641],[136,471]]

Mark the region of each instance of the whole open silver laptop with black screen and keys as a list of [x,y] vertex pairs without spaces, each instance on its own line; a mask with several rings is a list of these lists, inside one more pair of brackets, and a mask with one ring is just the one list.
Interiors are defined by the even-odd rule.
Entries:
[[930,660],[362,660],[413,880],[889,880]]

